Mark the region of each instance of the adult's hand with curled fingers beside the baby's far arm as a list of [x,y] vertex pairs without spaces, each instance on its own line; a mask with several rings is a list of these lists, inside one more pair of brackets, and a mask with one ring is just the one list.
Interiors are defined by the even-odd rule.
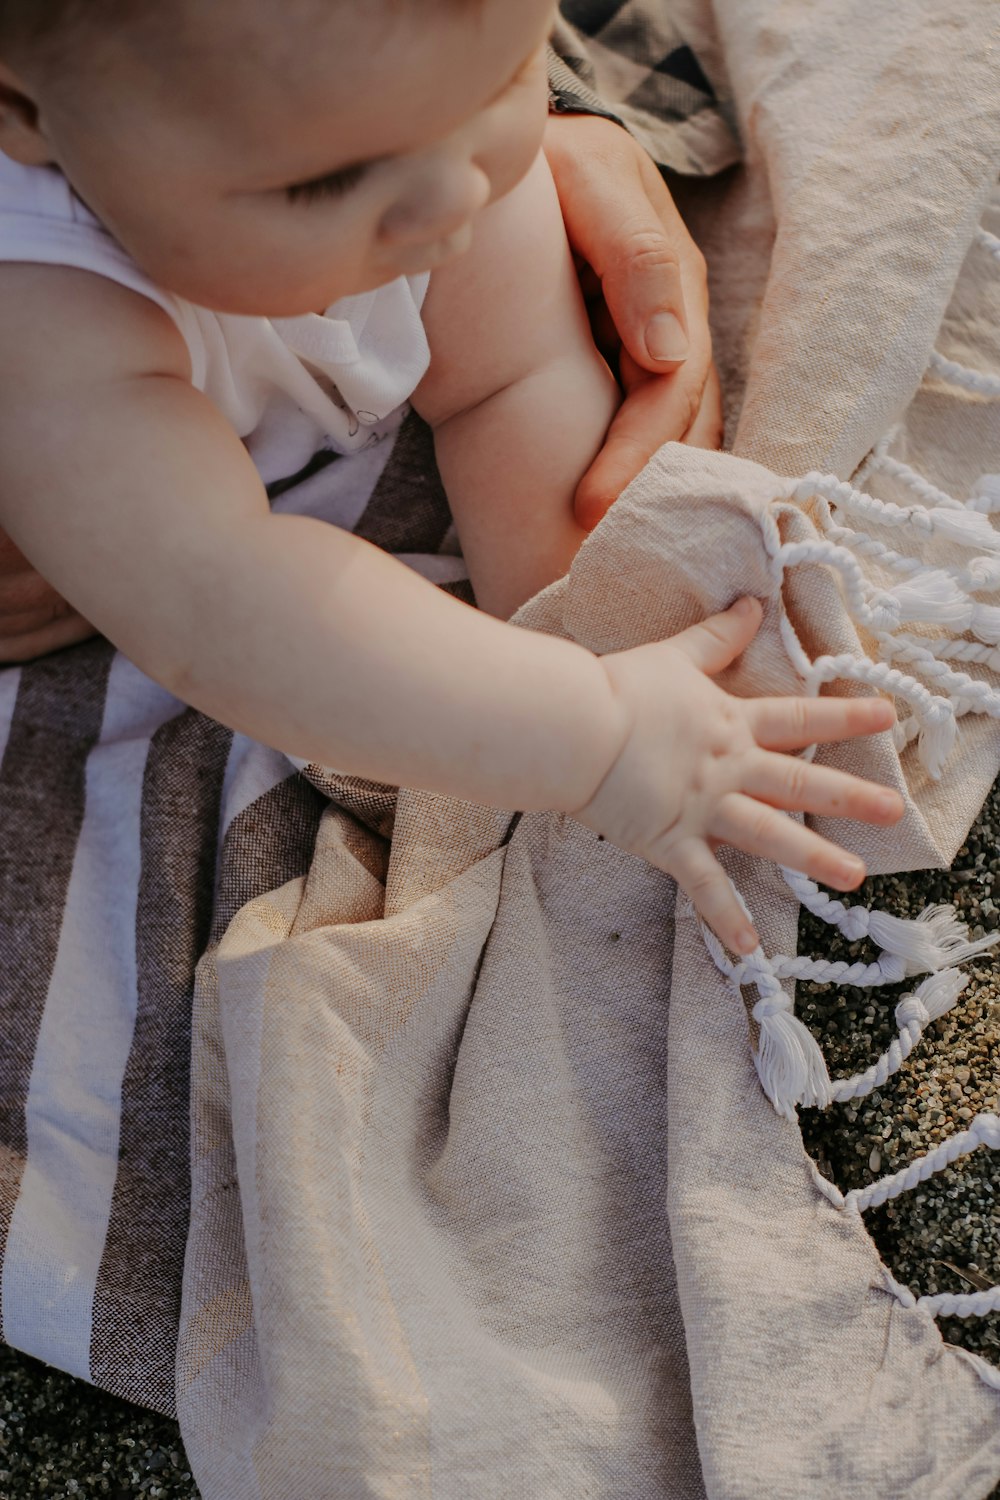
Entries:
[[705,258],[657,165],[600,116],[549,116],[544,147],[594,336],[625,392],[576,492],[589,530],[661,444],[718,447],[721,394]]

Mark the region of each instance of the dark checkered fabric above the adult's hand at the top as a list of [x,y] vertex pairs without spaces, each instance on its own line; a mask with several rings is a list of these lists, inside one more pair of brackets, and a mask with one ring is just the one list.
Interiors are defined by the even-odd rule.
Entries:
[[724,88],[699,60],[669,0],[562,0],[549,48],[549,94],[561,112],[624,124],[660,166],[709,176],[739,160]]

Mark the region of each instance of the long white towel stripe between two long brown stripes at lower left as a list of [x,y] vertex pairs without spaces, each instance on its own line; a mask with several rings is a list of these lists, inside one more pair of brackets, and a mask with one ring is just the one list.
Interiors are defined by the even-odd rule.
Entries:
[[151,735],[181,708],[114,658],[28,1086],[3,1328],[16,1348],[84,1380],[135,1029],[142,777]]

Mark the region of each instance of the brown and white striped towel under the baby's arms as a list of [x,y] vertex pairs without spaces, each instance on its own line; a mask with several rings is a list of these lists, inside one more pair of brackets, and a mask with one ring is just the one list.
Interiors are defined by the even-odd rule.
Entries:
[[[468,592],[414,416],[273,502]],[[106,640],[0,672],[0,760],[3,1338],[171,1413],[195,964],[307,870],[327,796]]]

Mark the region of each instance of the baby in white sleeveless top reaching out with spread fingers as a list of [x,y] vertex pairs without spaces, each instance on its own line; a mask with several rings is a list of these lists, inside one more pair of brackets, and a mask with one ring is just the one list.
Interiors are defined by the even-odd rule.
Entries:
[[[889,704],[730,698],[753,600],[595,657],[504,622],[618,405],[540,156],[550,0],[0,0],[0,526],[183,700],[292,756],[553,808],[756,944],[720,843],[900,798],[780,752]],[[432,273],[427,276],[427,273]],[[480,610],[264,482],[406,398]],[[499,618],[498,618],[499,616]]]

